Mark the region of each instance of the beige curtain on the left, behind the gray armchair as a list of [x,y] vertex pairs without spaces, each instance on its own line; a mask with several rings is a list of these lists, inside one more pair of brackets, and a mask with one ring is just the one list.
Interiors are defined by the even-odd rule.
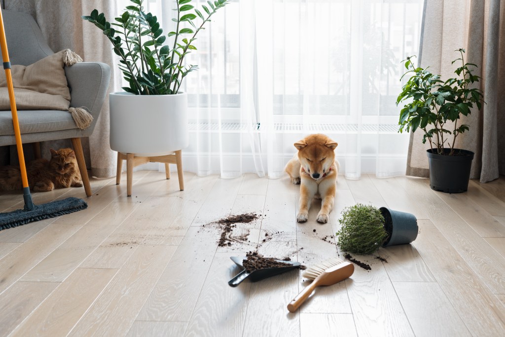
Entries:
[[[91,24],[85,24],[82,15],[89,15],[93,9],[104,12],[107,17],[117,14],[115,0],[4,0],[7,10],[29,13],[38,23],[47,43],[53,51],[70,49],[84,61],[104,62],[111,65],[113,91],[121,83],[119,72],[113,64],[113,52],[107,38]],[[42,156],[49,148],[69,147],[67,140],[42,143]],[[102,112],[88,141],[82,139],[86,166],[95,177],[116,175],[116,155],[109,146],[109,98],[106,98]],[[46,156],[47,157],[47,156]]]

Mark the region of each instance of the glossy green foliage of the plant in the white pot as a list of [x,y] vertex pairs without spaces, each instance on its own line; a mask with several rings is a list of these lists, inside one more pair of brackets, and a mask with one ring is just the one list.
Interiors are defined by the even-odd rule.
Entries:
[[[144,0],[130,1],[132,5],[126,6],[114,22],[107,21],[105,14],[96,9],[82,19],[93,23],[111,41],[113,51],[119,57],[119,68],[129,85],[123,87],[125,91],[139,95],[176,94],[184,77],[198,69],[196,65],[184,64],[184,57],[196,50],[193,43],[196,35],[230,0],[208,2],[212,10],[202,6],[207,16],[190,4],[192,0],[176,0],[177,17],[172,21],[177,23],[177,28],[167,35],[163,34],[158,18],[145,13]],[[200,22],[195,21],[197,17]],[[193,28],[182,27],[184,22]],[[191,37],[182,39],[181,43],[182,34],[191,34]],[[172,36],[173,43],[164,44],[167,37]]]

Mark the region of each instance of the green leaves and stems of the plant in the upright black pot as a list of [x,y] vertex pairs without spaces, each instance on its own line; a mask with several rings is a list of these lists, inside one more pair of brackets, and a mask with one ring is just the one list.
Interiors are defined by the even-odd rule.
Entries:
[[[456,137],[469,130],[466,124],[458,125],[459,119],[462,115],[468,116],[474,107],[480,110],[482,103],[485,103],[482,91],[471,87],[480,77],[473,75],[469,67],[477,68],[477,66],[465,63],[464,49],[456,52],[461,54],[461,58],[452,61],[452,64],[461,61],[462,66],[454,71],[459,78],[449,78],[445,81],[440,79],[440,75],[432,74],[428,68],[415,67],[414,57],[402,61],[405,62],[407,72],[400,80],[407,75],[411,77],[403,85],[396,100],[397,106],[403,104],[398,132],[403,130],[414,132],[418,128],[422,129],[423,143],[428,140],[430,148],[436,149],[439,155],[445,154],[444,149],[447,148],[450,149],[449,156],[455,154]],[[428,125],[433,127],[428,128]],[[452,130],[447,129],[449,126]]]

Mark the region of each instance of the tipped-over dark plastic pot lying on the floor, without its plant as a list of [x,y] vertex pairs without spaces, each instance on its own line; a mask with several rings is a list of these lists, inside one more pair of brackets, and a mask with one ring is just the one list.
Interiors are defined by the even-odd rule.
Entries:
[[385,207],[379,210],[385,220],[384,228],[389,234],[382,247],[410,244],[416,239],[419,227],[414,214],[393,211]]

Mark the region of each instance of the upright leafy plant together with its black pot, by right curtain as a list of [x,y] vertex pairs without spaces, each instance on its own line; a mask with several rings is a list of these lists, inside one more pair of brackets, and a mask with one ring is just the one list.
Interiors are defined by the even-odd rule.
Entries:
[[423,143],[428,140],[430,144],[427,150],[430,186],[448,193],[468,189],[474,153],[456,149],[455,142],[458,135],[469,130],[469,125],[459,123],[461,116],[468,116],[474,107],[480,110],[484,102],[482,91],[471,87],[480,78],[470,69],[477,65],[465,63],[464,49],[457,52],[461,57],[452,64],[461,62],[461,67],[455,70],[458,77],[445,81],[428,68],[415,67],[413,58],[407,58],[408,71],[401,78],[407,74],[412,76],[396,100],[396,105],[408,102],[400,111],[399,132],[403,129],[414,132],[418,128],[424,131]]

